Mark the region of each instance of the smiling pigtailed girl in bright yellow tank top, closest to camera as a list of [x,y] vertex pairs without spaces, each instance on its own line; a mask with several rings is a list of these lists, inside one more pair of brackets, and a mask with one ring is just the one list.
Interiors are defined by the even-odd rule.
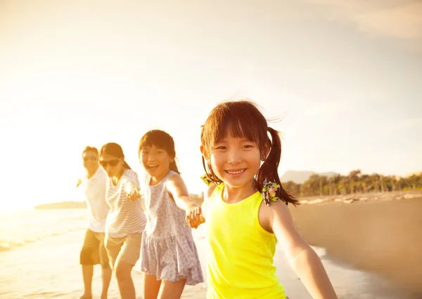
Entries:
[[186,220],[195,228],[206,222],[207,298],[286,298],[273,265],[277,241],[312,298],[337,298],[318,255],[293,225],[286,204],[298,201],[277,172],[279,133],[255,104],[217,105],[203,126],[201,152],[209,189],[203,208]]

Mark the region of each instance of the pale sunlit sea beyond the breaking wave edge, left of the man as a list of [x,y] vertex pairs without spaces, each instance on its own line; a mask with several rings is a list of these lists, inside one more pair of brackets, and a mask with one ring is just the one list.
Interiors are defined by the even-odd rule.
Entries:
[[87,227],[86,209],[27,210],[0,213],[0,251]]

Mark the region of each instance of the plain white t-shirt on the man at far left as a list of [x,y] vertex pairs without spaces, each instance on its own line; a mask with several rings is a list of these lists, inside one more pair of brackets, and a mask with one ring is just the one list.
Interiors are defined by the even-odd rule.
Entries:
[[106,178],[106,172],[100,166],[91,178],[87,178],[87,175],[82,176],[89,211],[88,228],[93,232],[106,232],[106,219],[110,211],[106,201]]

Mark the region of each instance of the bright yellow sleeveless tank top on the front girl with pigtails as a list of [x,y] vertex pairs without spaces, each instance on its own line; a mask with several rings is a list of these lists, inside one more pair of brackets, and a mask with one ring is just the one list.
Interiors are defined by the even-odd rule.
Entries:
[[205,214],[208,299],[285,299],[273,257],[276,237],[262,228],[260,192],[236,204],[215,188]]

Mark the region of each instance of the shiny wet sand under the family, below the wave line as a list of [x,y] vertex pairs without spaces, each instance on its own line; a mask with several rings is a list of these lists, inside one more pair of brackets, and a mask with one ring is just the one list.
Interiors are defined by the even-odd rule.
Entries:
[[[300,209],[301,211],[299,209],[297,211],[307,213],[305,212],[307,208]],[[298,218],[297,213],[295,216]],[[302,227],[301,222],[298,222],[298,225]],[[13,251],[2,252],[0,254],[0,298],[79,298],[83,289],[82,274],[78,265],[83,234],[82,230],[69,232],[42,239]],[[203,228],[194,230],[193,234],[205,273]],[[359,271],[345,263],[336,262],[325,254],[323,248],[315,248],[315,250],[321,256],[339,298],[420,298],[412,296],[376,274]],[[290,269],[279,248],[277,248],[274,263],[290,299],[311,298],[300,279]],[[99,298],[101,292],[100,273],[101,268],[96,266],[93,281],[94,298]],[[137,298],[141,298],[139,264],[134,268],[133,277]],[[205,298],[205,294],[206,284],[186,286],[182,298]],[[109,298],[119,298],[114,277],[110,285]]]

